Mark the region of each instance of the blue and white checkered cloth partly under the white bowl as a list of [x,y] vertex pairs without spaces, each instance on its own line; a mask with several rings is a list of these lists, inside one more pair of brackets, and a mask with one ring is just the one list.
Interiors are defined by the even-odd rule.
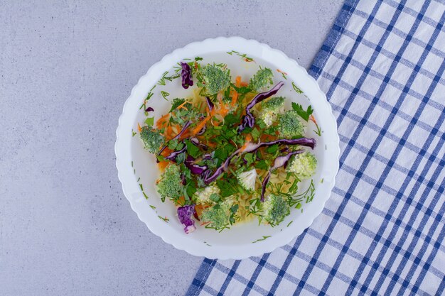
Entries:
[[187,295],[444,295],[444,1],[347,0],[311,67],[340,171],[288,246],[205,259]]

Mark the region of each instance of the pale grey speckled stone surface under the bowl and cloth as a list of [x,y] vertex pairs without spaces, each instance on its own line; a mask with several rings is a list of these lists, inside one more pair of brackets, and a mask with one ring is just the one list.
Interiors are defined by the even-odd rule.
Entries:
[[117,180],[125,99],[219,35],[308,67],[341,2],[0,1],[0,295],[183,295],[202,258],[151,234]]

